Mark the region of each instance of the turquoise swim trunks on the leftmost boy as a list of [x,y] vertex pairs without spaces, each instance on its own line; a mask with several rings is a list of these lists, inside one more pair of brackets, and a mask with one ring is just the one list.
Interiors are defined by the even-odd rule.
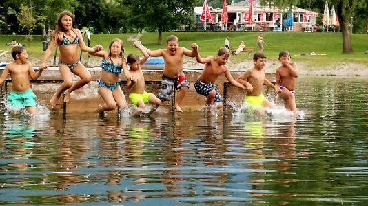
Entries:
[[32,89],[23,92],[10,91],[7,100],[10,102],[12,108],[36,107],[36,95]]

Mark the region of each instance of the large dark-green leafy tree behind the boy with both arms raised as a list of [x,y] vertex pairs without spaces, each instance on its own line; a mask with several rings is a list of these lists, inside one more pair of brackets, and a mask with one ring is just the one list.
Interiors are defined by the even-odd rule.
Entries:
[[[162,43],[162,32],[176,29],[190,21],[198,0],[131,0],[125,1],[134,15],[144,19],[144,27],[159,32],[158,43]],[[140,25],[143,26],[143,25]]]

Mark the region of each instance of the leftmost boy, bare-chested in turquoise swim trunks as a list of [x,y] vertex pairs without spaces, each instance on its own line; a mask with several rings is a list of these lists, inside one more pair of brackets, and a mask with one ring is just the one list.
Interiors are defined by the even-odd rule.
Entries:
[[6,80],[8,74],[12,79],[12,91],[8,96],[8,101],[11,104],[12,110],[25,108],[28,113],[35,114],[36,110],[36,95],[30,88],[30,78],[37,80],[43,69],[35,72],[32,64],[28,61],[27,51],[23,47],[17,46],[12,49],[12,57],[14,62],[6,65],[3,73],[0,76],[0,84]]

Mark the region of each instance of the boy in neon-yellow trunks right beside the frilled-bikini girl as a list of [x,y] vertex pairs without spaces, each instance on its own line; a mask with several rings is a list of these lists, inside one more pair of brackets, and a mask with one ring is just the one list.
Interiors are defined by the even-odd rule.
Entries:
[[141,41],[134,41],[134,46],[139,48],[144,56],[142,59],[135,54],[129,54],[127,56],[127,65],[129,65],[130,68],[129,72],[134,77],[134,79],[127,80],[127,89],[129,89],[130,101],[139,108],[138,113],[143,113],[143,109],[146,106],[145,104],[154,105],[147,113],[147,115],[150,115],[161,105],[161,100],[153,93],[147,93],[147,91],[145,91],[145,78],[141,70],[141,65],[147,61],[149,55],[140,45]]

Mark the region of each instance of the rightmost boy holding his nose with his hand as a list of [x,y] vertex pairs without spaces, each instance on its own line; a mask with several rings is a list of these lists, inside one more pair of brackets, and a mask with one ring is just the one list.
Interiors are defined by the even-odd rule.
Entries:
[[295,103],[296,78],[298,78],[298,66],[292,62],[292,58],[287,51],[278,54],[281,66],[276,69],[276,88],[281,89],[278,97],[284,100],[287,110],[297,113]]

